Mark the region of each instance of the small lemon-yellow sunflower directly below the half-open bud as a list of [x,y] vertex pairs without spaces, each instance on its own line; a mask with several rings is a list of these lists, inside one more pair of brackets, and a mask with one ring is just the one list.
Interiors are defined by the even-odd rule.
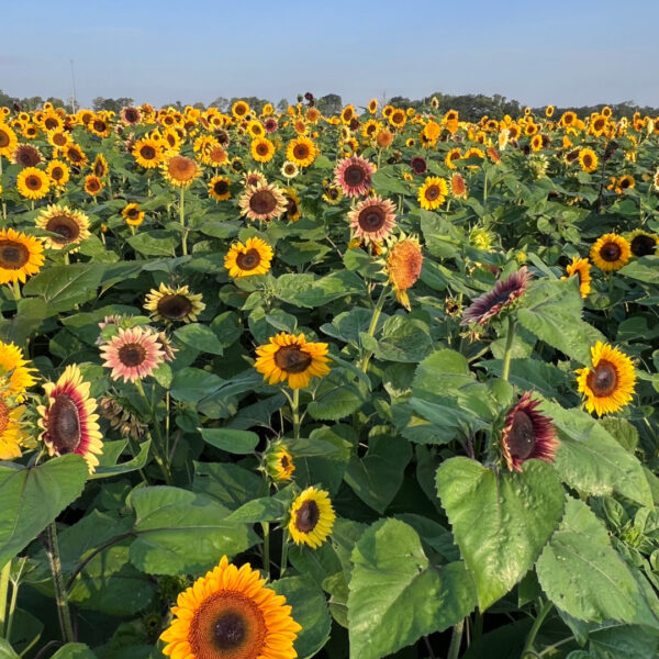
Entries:
[[306,488],[291,505],[289,534],[295,545],[316,549],[332,533],[335,520],[330,494],[325,490]]

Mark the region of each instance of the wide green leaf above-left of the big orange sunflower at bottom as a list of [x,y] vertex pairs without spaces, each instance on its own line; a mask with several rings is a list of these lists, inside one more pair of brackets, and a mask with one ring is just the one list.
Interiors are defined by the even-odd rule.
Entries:
[[137,515],[138,534],[131,561],[149,574],[201,572],[222,555],[235,556],[258,540],[246,525],[226,522],[230,511],[204,494],[142,488],[133,490],[127,503]]

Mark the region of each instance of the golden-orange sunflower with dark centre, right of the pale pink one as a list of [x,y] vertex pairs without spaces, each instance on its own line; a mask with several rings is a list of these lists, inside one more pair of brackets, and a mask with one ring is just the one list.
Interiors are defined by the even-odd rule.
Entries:
[[291,389],[308,387],[311,378],[322,378],[330,372],[327,344],[310,343],[304,334],[295,336],[280,332],[270,343],[256,349],[254,367],[269,384],[288,380]]

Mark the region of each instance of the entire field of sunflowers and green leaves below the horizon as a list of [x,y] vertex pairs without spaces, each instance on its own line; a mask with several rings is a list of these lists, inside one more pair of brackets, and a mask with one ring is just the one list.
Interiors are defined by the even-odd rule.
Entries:
[[659,648],[659,119],[0,108],[0,658]]

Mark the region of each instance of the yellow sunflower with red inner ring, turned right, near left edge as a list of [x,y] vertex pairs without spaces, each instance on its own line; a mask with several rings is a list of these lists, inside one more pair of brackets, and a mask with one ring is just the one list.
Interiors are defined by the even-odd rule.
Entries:
[[44,384],[47,405],[37,407],[41,439],[51,456],[75,453],[82,456],[93,473],[103,453],[96,399],[89,398],[89,382],[82,381],[76,365],[67,366],[56,383]]

